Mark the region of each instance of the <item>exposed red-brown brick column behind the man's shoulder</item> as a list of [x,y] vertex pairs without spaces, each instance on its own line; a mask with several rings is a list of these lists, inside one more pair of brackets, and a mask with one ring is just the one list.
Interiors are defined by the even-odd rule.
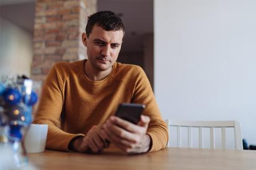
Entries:
[[55,62],[86,58],[81,34],[96,9],[97,0],[37,0],[32,79],[43,81]]

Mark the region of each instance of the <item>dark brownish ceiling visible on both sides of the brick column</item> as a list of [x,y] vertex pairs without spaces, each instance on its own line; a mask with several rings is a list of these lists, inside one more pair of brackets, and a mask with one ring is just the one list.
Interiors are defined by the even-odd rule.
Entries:
[[[153,0],[98,0],[98,11],[110,10],[125,24],[122,51],[143,51],[143,35],[153,33]],[[33,33],[35,0],[0,0],[0,16]]]

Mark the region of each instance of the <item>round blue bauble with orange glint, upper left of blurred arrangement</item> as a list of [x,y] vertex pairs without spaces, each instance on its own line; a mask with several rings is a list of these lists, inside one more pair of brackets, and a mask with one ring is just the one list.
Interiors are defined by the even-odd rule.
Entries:
[[7,104],[17,104],[20,102],[21,97],[19,90],[15,88],[7,88],[4,91],[4,101]]

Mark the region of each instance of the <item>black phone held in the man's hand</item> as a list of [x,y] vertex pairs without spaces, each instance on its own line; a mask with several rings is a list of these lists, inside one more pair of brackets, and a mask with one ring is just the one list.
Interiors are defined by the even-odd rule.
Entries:
[[125,119],[133,124],[138,124],[145,107],[144,104],[121,103],[118,106],[115,116]]

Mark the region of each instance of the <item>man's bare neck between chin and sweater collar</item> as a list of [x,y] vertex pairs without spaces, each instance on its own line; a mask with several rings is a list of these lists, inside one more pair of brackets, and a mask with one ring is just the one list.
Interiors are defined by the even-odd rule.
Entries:
[[84,64],[84,72],[87,78],[92,81],[100,81],[105,79],[105,77],[107,77],[110,74],[111,70],[112,68],[104,71],[96,70],[92,66],[90,66],[89,61],[87,61],[86,64]]

